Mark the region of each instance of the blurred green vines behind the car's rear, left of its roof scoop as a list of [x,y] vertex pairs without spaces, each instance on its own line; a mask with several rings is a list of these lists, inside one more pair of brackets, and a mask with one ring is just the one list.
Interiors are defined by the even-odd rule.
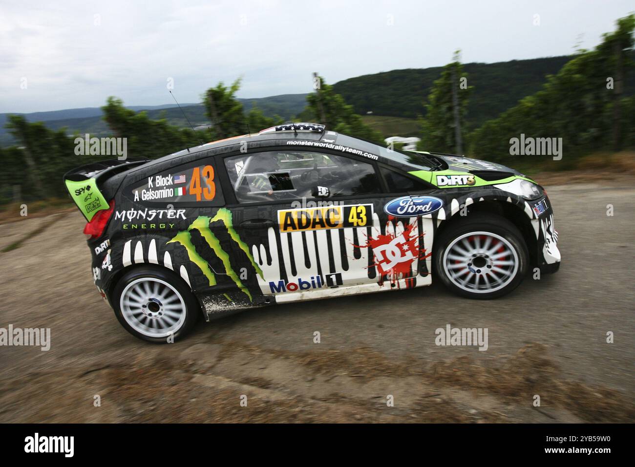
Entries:
[[[147,112],[126,109],[123,102],[109,97],[102,107],[104,121],[115,137],[126,138],[128,157],[159,158],[198,146],[201,141],[218,139],[220,135],[236,136],[245,133],[243,129],[253,128],[258,132],[263,128],[283,123],[280,117],[270,118],[253,104],[244,115],[243,107],[234,98],[239,81],[231,88],[220,83],[206,93],[208,113],[211,114],[211,100],[215,102],[214,112],[217,125],[209,132],[194,132],[190,128],[180,128],[168,123],[164,118],[150,119]],[[20,147],[0,149],[0,158],[5,164],[0,171],[0,203],[11,201],[15,186],[21,192],[22,200],[35,200],[67,196],[62,175],[80,165],[108,158],[108,156],[77,156],[75,137],[67,135],[65,128],[51,130],[44,123],[29,123],[23,116],[8,116],[7,128]],[[223,132],[223,133],[222,133]],[[230,133],[224,133],[230,132]]]

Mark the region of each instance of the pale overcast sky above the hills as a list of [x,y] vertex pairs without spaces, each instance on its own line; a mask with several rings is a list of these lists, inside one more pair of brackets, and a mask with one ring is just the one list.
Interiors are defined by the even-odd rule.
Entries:
[[[622,0],[0,0],[0,112],[199,102],[312,90],[363,74],[501,62],[592,48],[635,10]],[[539,15],[540,25],[534,25]]]

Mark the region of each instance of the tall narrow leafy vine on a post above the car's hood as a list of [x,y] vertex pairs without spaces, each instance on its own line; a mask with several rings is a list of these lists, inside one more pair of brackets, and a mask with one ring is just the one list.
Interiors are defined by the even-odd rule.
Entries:
[[467,86],[467,74],[463,71],[457,50],[453,62],[443,67],[441,76],[432,85],[425,103],[425,118],[419,118],[421,149],[462,154],[465,113],[473,87]]

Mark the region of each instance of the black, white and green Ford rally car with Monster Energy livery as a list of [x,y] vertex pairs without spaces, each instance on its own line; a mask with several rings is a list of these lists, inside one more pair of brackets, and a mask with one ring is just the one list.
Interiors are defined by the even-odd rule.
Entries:
[[542,187],[505,166],[291,123],[156,160],[72,170],[93,280],[131,334],[201,315],[422,287],[509,293],[560,253]]

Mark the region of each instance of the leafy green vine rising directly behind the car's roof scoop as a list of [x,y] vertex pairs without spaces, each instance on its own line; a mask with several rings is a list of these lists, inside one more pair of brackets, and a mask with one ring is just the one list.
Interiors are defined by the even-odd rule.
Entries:
[[319,89],[307,95],[307,109],[302,112],[305,121],[322,123],[326,128],[384,144],[384,135],[364,124],[361,116],[355,113],[352,105],[319,77]]

